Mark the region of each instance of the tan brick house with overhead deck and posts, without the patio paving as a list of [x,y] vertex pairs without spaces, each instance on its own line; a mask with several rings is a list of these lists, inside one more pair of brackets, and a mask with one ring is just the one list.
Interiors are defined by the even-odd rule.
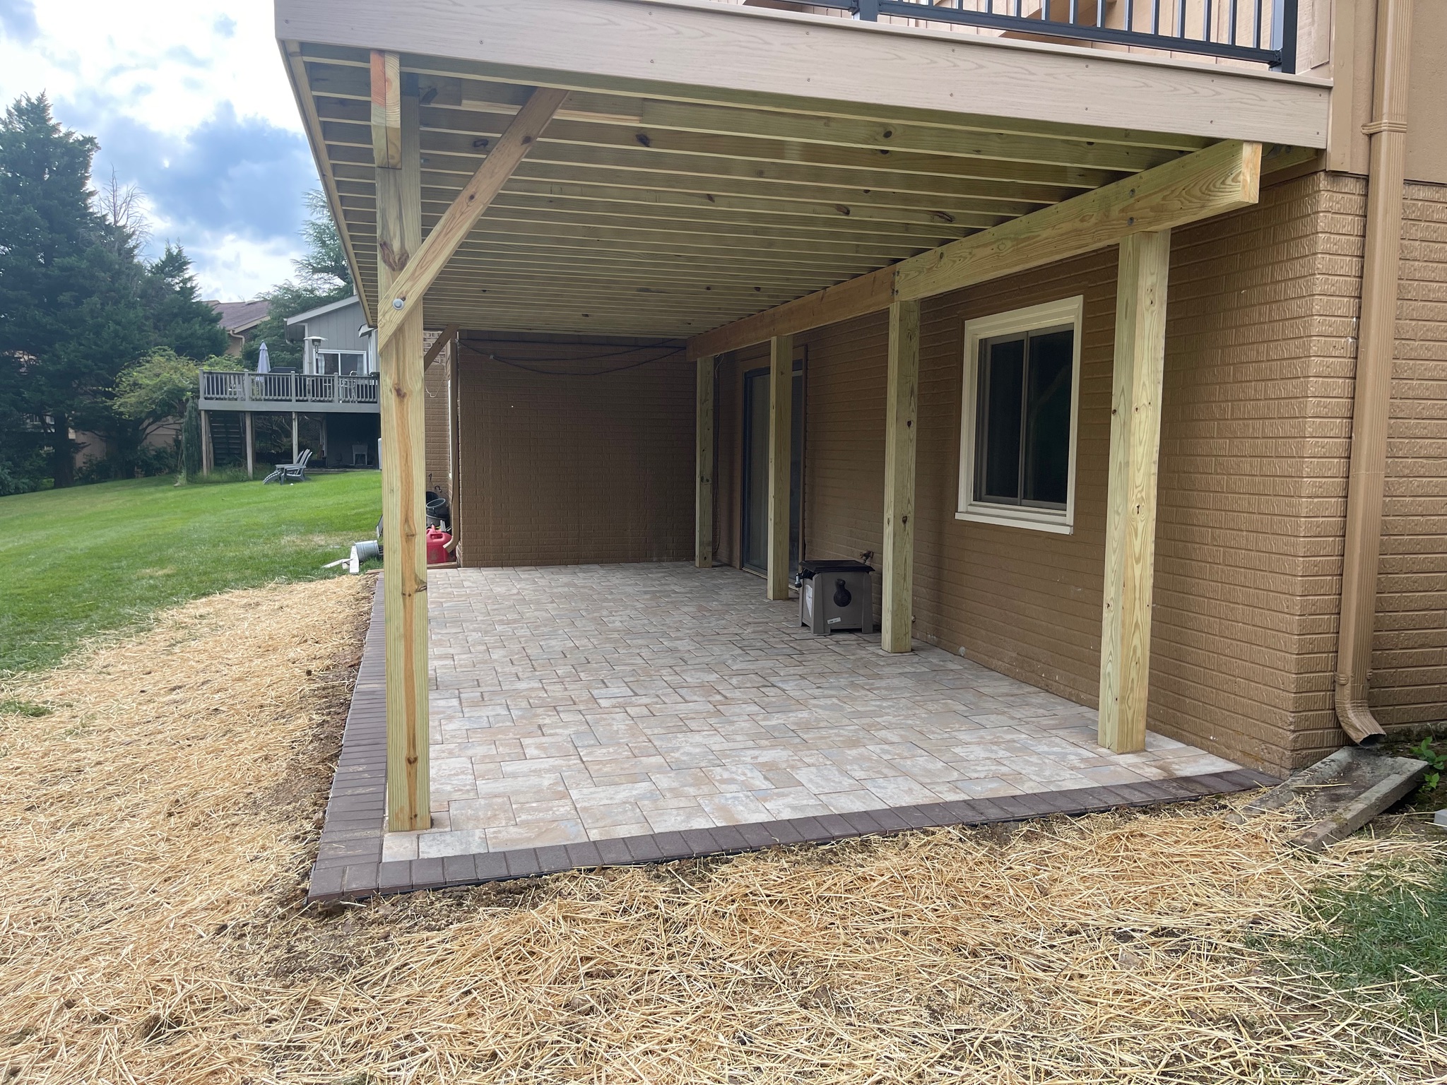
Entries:
[[[396,366],[389,531],[449,456],[463,571],[787,599],[862,554],[886,652],[1098,710],[1103,757],[1149,725],[1283,774],[1447,716],[1447,4],[781,7],[278,0]],[[425,378],[423,323],[459,344]]]

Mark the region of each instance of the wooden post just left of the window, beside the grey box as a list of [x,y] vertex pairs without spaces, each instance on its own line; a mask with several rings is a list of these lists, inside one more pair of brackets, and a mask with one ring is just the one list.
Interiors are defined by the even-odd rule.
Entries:
[[880,647],[913,647],[915,421],[919,412],[919,302],[890,305],[888,399],[884,415],[884,600]]

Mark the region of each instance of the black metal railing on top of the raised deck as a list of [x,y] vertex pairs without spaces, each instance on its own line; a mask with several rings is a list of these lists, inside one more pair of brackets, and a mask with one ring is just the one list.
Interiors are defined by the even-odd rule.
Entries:
[[936,23],[1189,52],[1297,71],[1298,0],[805,0],[877,22],[881,14]]

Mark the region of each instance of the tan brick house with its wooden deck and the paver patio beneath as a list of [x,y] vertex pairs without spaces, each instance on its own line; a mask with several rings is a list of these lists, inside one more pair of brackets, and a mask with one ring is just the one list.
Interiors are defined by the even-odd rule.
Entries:
[[[382,373],[314,895],[1202,794],[1447,715],[1447,7],[276,10]],[[802,629],[800,558],[864,558],[878,634]]]

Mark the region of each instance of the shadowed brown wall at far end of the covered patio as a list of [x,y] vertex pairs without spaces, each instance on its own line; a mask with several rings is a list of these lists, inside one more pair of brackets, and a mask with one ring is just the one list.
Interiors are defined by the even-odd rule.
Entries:
[[[619,357],[631,344],[476,336],[466,344],[463,564],[692,560],[695,369],[682,350]],[[641,359],[655,360],[585,375]]]

